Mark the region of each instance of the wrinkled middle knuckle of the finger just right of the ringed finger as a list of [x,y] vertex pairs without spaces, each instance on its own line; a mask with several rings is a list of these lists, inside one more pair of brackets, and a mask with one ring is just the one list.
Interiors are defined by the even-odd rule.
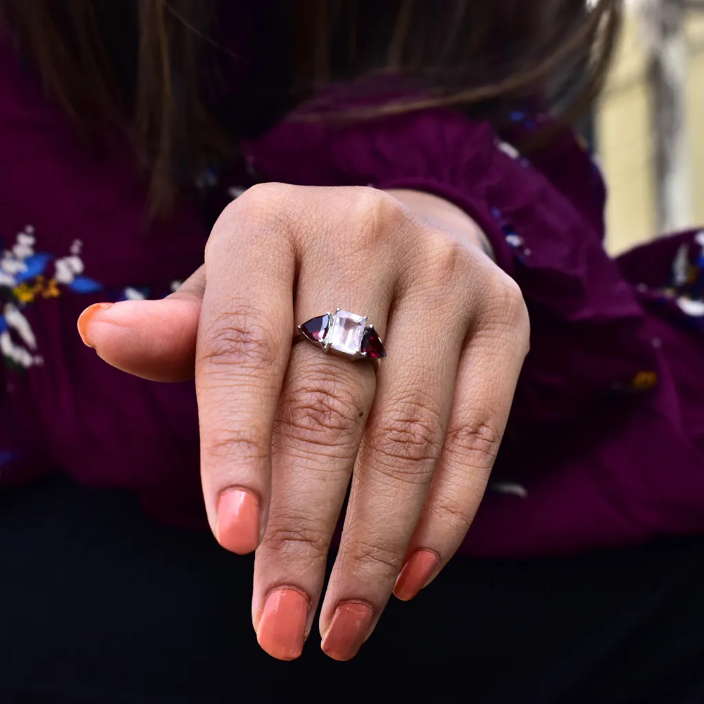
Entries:
[[394,411],[365,439],[365,451],[371,451],[375,464],[390,479],[427,482],[442,448],[439,415],[421,401],[393,406]]

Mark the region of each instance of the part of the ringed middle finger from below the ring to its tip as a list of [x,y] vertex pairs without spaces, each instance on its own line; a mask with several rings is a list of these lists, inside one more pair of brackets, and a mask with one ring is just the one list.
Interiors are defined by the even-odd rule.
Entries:
[[[272,501],[257,551],[252,599],[257,639],[276,658],[301,654],[315,615],[327,551],[372,403],[373,377],[368,363],[353,365],[308,344],[296,345],[291,356],[275,426]],[[306,604],[306,617],[287,631],[282,621],[293,621],[281,609],[272,610],[282,589],[295,589]]]

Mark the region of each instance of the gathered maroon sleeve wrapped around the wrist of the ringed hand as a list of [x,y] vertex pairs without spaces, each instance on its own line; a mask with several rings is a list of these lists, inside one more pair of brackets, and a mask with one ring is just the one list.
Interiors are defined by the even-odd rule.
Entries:
[[[603,184],[574,139],[557,146],[532,163],[490,125],[437,109],[353,124],[294,117],[245,151],[258,180],[417,189],[463,208],[527,301],[513,422],[534,423],[565,420],[656,363],[639,301],[603,249]],[[579,178],[560,182],[555,160]]]

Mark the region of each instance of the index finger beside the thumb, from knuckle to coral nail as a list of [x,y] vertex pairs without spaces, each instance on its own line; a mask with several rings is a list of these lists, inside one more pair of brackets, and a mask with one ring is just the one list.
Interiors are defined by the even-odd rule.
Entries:
[[201,479],[210,527],[240,554],[257,548],[266,524],[274,417],[291,352],[295,257],[275,222],[284,188],[250,189],[223,211],[206,246],[195,365]]

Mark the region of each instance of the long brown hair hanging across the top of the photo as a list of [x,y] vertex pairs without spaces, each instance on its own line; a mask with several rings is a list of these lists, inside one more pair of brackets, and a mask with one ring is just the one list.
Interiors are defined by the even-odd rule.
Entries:
[[116,132],[132,141],[155,212],[242,134],[329,82],[393,74],[412,97],[374,114],[455,106],[500,128],[511,106],[532,100],[572,120],[601,89],[622,12],[622,0],[267,0],[268,19],[253,30],[257,80],[238,105],[222,66],[241,60],[218,32],[218,5],[0,0],[82,134],[102,146]]

